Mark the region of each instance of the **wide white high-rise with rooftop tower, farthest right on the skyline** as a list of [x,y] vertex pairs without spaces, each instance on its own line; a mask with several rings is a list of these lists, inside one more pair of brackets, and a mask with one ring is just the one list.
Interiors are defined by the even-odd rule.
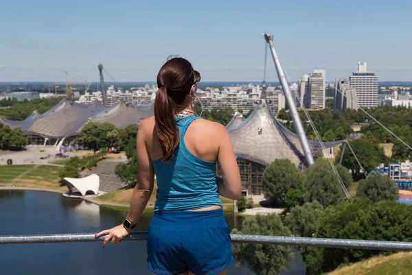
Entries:
[[353,72],[349,82],[356,89],[358,107],[378,106],[378,76],[367,71],[366,62],[358,62],[358,72]]

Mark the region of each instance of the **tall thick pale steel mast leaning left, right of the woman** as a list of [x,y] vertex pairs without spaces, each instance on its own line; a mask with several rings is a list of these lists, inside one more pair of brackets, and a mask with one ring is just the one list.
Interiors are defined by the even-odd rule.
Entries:
[[284,90],[286,102],[288,103],[290,114],[292,115],[293,124],[295,124],[297,136],[299,137],[299,141],[301,142],[302,149],[304,150],[306,162],[308,162],[308,165],[312,165],[314,161],[313,161],[312,153],[310,153],[308,139],[306,138],[304,126],[302,126],[302,122],[299,118],[299,113],[297,112],[295,101],[293,100],[293,96],[290,93],[288,81],[286,80],[283,67],[279,61],[279,56],[277,56],[275,46],[273,45],[273,35],[269,33],[266,33],[263,35],[264,35],[264,39],[266,39],[266,42],[269,44],[269,47],[271,47],[273,62],[275,63],[277,76],[279,78],[280,85],[282,85],[282,89]]

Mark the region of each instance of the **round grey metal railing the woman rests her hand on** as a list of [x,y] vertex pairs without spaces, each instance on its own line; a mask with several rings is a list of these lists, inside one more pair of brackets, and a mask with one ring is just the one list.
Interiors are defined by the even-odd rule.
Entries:
[[[94,234],[49,234],[0,236],[0,245],[23,243],[84,243],[103,241],[105,236],[95,238]],[[145,241],[147,232],[133,232],[122,241]],[[412,243],[400,241],[366,241],[349,239],[303,238],[295,236],[262,236],[231,234],[233,243],[261,243],[271,245],[317,246],[321,248],[352,248],[361,250],[412,251]]]

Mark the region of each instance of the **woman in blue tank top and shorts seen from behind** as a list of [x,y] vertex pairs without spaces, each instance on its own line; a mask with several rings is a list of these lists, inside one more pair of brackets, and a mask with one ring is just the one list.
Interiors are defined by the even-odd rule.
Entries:
[[[172,58],[157,75],[155,116],[139,124],[137,184],[123,225],[109,234],[118,244],[135,227],[157,175],[157,202],[148,230],[148,266],[155,274],[225,274],[230,229],[219,195],[238,199],[240,173],[225,126],[194,114],[201,80],[189,61]],[[216,177],[216,162],[222,178]]]

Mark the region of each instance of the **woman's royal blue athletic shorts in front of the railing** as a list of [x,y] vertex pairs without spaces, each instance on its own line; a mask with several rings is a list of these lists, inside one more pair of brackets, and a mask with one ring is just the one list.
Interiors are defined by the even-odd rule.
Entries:
[[155,274],[218,274],[233,261],[222,209],[156,212],[147,251],[149,270]]

